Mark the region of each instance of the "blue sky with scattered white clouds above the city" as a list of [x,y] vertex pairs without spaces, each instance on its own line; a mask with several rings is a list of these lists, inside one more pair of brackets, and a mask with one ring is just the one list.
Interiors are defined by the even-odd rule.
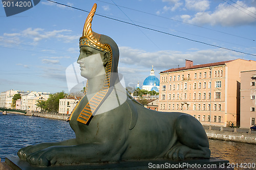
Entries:
[[[84,11],[97,4],[92,30],[118,44],[126,87],[142,86],[152,65],[159,78],[160,71],[185,66],[185,59],[194,65],[256,60],[256,0],[55,1]],[[69,93],[66,70],[79,56],[88,12],[41,0],[7,17],[1,6],[0,92]]]

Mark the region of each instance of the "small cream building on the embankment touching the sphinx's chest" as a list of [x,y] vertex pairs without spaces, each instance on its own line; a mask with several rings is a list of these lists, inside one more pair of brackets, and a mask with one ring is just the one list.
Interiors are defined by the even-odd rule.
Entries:
[[79,102],[79,98],[75,96],[69,96],[65,99],[59,100],[59,113],[70,114]]

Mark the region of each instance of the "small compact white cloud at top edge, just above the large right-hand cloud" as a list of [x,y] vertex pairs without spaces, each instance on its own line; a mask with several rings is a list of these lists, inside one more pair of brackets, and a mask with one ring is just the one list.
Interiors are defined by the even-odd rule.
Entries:
[[189,10],[205,11],[209,9],[210,3],[207,0],[185,0],[185,7]]

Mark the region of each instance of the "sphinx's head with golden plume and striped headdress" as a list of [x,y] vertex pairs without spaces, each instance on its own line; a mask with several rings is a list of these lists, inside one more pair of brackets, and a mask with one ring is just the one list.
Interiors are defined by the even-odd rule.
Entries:
[[81,76],[87,79],[118,72],[119,50],[116,42],[106,35],[92,31],[92,18],[96,8],[97,5],[94,4],[79,40],[80,55],[77,63],[81,67]]

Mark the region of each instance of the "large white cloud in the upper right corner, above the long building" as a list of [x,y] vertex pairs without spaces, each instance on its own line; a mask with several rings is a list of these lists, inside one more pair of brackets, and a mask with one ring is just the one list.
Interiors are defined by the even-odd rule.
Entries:
[[[241,9],[243,8],[256,13],[255,7],[247,7],[243,2],[238,1],[237,4],[232,4],[233,6]],[[242,11],[246,11],[245,9],[241,9]],[[250,25],[256,24],[255,18],[250,15],[242,12],[228,4],[220,4],[214,12],[198,12],[194,17],[184,17],[181,16],[184,22],[193,23],[193,24],[210,24],[214,25],[222,25],[227,27],[232,26],[241,26],[241,25]]]

